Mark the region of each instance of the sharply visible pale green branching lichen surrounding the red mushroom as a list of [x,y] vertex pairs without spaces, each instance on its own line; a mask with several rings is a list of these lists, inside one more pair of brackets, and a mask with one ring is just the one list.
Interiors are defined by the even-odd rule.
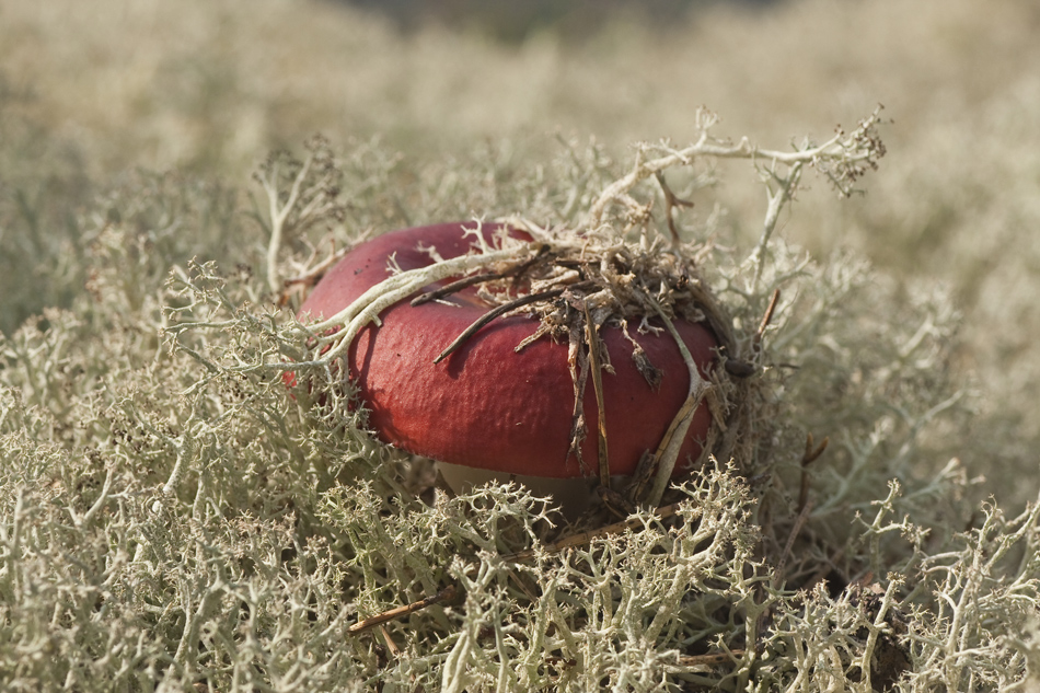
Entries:
[[[88,290],[0,342],[2,688],[1036,685],[1038,510],[973,511],[956,311],[775,232],[809,169],[847,194],[876,163],[877,114],[785,152],[698,118],[701,149],[640,146],[631,166],[570,145],[547,168],[446,164],[446,187],[314,141],[311,164],[268,162],[252,206],[174,174],[99,203]],[[733,157],[767,188],[743,249],[713,204]],[[566,528],[516,485],[450,498],[365,431],[291,289],[363,234],[471,212],[695,259],[747,371],[716,457],[663,508]]]

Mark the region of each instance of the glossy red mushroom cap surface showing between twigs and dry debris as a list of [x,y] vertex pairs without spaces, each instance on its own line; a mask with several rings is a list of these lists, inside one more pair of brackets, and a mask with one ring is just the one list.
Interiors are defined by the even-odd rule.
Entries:
[[[470,224],[471,228],[474,224]],[[487,239],[498,224],[483,226]],[[517,233],[518,238],[522,234]],[[441,257],[472,249],[463,223],[443,223],[381,235],[354,249],[314,288],[300,314],[328,317],[385,279],[393,255],[402,269],[432,264],[420,250],[436,247]],[[596,473],[597,404],[591,384],[585,393],[589,435],[582,444],[587,469],[568,454],[574,385],[567,345],[543,337],[521,351],[515,348],[534,333],[525,315],[497,319],[481,328],[440,363],[434,359],[490,307],[472,289],[453,294],[451,304],[417,307],[402,301],[380,314],[348,354],[350,379],[371,411],[369,426],[385,442],[436,460],[507,474],[576,477]],[[702,369],[714,361],[717,346],[701,324],[675,320],[675,327]],[[640,457],[657,449],[686,399],[689,371],[667,332],[632,336],[662,371],[654,390],[632,360],[633,346],[621,330],[600,331],[614,373],[602,372],[606,442],[611,474],[632,474]],[[710,415],[702,404],[680,450],[677,472],[696,459]]]

